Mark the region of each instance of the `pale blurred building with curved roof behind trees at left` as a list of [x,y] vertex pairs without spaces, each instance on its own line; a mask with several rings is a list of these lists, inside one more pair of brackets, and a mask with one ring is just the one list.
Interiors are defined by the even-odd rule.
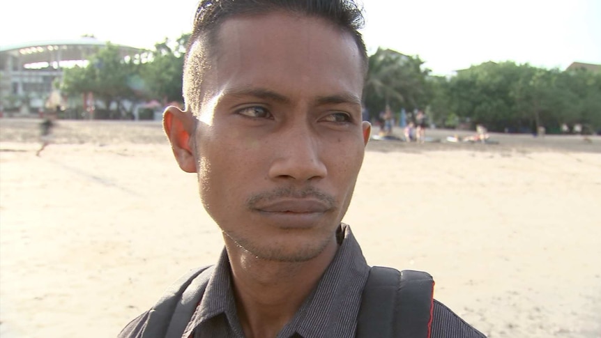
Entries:
[[[36,113],[61,82],[63,69],[84,66],[89,56],[106,47],[93,37],[0,46],[0,112]],[[116,45],[125,58],[144,49]]]

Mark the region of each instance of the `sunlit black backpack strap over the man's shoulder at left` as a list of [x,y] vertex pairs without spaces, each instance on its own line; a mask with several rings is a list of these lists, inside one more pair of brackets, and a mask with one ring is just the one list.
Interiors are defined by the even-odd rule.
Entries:
[[142,337],[181,338],[212,272],[213,266],[191,270],[172,284],[150,310]]

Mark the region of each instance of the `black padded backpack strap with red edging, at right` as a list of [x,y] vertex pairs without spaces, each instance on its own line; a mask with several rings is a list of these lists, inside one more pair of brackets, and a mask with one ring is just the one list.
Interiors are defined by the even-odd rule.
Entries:
[[357,338],[429,338],[434,280],[427,272],[374,266],[367,277]]

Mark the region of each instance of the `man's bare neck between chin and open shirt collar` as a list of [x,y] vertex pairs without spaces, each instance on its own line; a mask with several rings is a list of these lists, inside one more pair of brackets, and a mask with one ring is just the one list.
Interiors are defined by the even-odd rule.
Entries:
[[337,248],[333,238],[309,261],[266,261],[226,239],[236,308],[245,337],[276,337],[317,285]]

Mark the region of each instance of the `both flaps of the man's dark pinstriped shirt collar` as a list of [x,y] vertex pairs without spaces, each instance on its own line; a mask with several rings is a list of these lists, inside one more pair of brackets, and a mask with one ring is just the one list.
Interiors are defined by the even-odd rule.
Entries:
[[[369,275],[369,267],[350,227],[343,223],[339,231],[344,237],[333,261],[317,287],[282,328],[278,338],[292,337],[295,333],[304,338],[354,337],[361,293]],[[185,331],[189,334],[198,325],[219,314],[227,316],[231,330],[241,332],[225,249]]]

